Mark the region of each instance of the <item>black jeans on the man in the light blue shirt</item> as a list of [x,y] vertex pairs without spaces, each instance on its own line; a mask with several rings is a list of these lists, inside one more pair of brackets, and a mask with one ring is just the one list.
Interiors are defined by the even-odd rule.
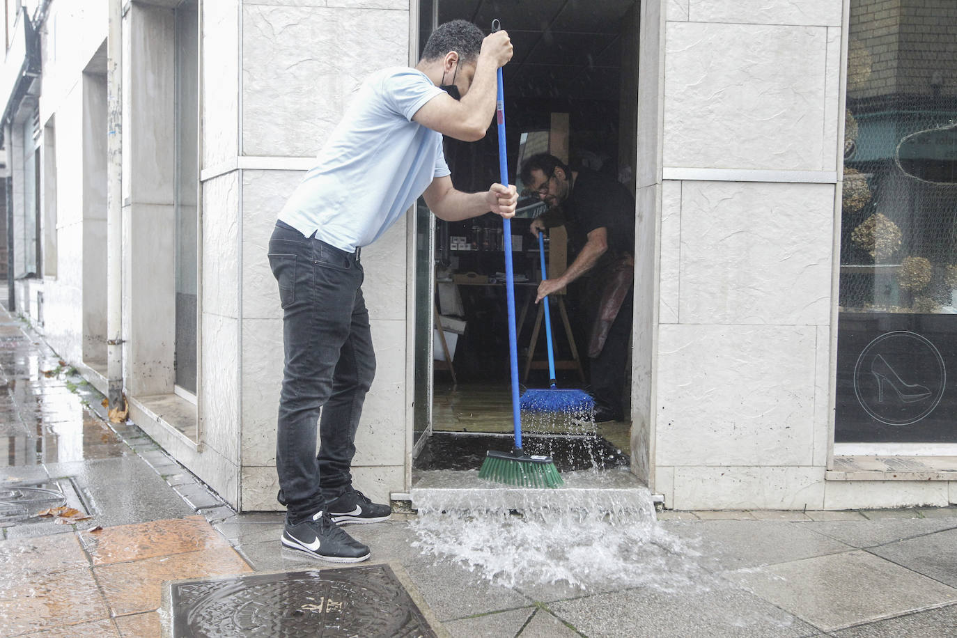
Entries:
[[375,353],[358,251],[346,253],[277,222],[269,265],[279,284],[285,349],[276,469],[280,502],[298,522],[352,482],[349,468]]

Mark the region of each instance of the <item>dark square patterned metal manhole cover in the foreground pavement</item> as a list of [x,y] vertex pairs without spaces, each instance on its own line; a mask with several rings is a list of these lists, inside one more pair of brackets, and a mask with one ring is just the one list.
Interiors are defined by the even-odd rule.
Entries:
[[173,583],[173,636],[435,636],[389,565]]

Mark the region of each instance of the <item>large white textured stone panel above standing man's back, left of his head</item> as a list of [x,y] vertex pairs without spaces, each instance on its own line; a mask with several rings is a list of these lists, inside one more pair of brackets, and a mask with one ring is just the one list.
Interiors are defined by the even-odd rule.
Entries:
[[409,11],[243,7],[244,155],[313,156],[362,79],[409,63]]

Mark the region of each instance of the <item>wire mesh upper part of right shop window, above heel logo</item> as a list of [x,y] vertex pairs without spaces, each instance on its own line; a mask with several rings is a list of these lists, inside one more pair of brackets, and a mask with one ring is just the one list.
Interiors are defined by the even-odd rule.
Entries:
[[957,313],[957,3],[852,0],[839,305]]

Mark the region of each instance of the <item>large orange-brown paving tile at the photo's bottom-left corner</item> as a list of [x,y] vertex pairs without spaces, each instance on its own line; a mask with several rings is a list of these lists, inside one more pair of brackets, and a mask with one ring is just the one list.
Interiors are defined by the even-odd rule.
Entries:
[[104,618],[109,609],[89,567],[0,580],[0,636]]

